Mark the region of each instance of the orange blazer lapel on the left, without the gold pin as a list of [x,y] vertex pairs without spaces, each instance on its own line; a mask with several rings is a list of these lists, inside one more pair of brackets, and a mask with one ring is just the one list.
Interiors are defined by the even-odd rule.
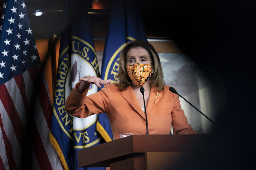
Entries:
[[135,109],[135,111],[137,111],[145,119],[145,114],[142,111],[141,106],[139,105],[137,97],[135,96],[135,93],[133,91],[133,87],[127,87],[127,90],[122,93],[122,96]]

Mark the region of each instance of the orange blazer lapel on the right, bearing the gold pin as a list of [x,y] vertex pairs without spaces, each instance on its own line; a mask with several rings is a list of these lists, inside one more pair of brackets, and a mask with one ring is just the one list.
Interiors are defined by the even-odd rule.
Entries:
[[151,87],[149,101],[147,102],[147,107],[146,107],[147,114],[151,111],[151,109],[153,109],[153,107],[156,107],[156,104],[160,100],[161,96],[162,96],[162,91],[158,92],[156,91],[155,87]]

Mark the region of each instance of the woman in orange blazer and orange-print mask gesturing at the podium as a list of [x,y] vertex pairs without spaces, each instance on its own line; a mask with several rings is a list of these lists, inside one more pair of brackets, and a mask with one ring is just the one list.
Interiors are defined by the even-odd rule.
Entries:
[[[79,118],[106,113],[114,140],[122,133],[146,134],[143,87],[149,134],[170,134],[171,126],[174,134],[199,134],[188,124],[179,96],[165,86],[160,58],[150,43],[135,40],[123,48],[116,78],[119,83],[112,84],[90,75],[79,79],[65,110]],[[86,96],[90,83],[105,87]]]

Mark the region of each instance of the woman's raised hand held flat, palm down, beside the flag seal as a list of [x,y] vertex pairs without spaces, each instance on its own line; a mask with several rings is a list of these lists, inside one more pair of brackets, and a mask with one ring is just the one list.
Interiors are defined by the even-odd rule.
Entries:
[[79,84],[78,88],[77,88],[77,92],[78,93],[83,93],[85,91],[85,89],[87,89],[90,84],[95,84],[97,87],[101,88],[101,84],[102,85],[107,85],[111,82],[111,79],[108,80],[102,80],[99,77],[95,77],[95,76],[91,76],[91,75],[87,75],[83,78],[79,79],[81,81],[81,83]]

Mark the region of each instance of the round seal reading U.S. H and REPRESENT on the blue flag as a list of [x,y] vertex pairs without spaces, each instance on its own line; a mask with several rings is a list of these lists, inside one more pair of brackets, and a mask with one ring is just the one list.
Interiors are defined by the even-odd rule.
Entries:
[[[59,55],[54,114],[62,130],[73,140],[74,148],[86,148],[102,138],[96,131],[97,115],[87,118],[73,117],[65,111],[65,101],[79,78],[86,75],[99,77],[99,67],[91,44],[76,36],[71,36],[70,42]],[[87,95],[97,91],[98,87],[91,84]]]

